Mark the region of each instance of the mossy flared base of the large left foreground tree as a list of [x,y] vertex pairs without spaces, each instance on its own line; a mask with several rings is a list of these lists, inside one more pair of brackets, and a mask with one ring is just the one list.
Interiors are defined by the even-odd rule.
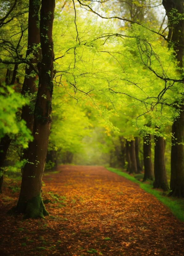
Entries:
[[45,209],[44,203],[41,198],[41,193],[35,197],[32,197],[29,200],[25,200],[24,196],[19,197],[17,206],[13,207],[8,213],[23,213],[24,219],[26,218],[44,218],[48,215],[47,210]]

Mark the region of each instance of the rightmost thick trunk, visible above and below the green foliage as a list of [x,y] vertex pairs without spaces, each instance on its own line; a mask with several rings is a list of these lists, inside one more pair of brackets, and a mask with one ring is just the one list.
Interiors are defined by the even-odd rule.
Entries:
[[[169,25],[169,34],[168,38],[171,39],[176,44],[173,44],[173,48],[176,51],[176,58],[178,60],[178,66],[183,67],[183,54],[184,49],[177,45],[177,43],[183,46],[184,42],[184,22],[179,20],[178,24],[172,24],[170,20],[169,12],[172,8],[178,10],[178,13],[183,14],[183,0],[163,0],[163,6],[165,8]],[[170,46],[170,44],[169,44]],[[183,103],[183,102],[182,102]],[[180,104],[180,103],[178,103]],[[180,116],[178,119],[174,120],[172,126],[172,146],[171,146],[171,180],[170,180],[170,196],[184,196],[184,179],[183,179],[183,170],[184,170],[184,146],[183,146],[183,105],[180,104]]]

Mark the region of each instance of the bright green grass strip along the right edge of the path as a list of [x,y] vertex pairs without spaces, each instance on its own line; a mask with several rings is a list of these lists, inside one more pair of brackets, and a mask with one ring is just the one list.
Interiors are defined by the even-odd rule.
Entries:
[[148,192],[149,194],[152,194],[153,196],[155,196],[159,201],[161,201],[164,205],[166,205],[179,220],[181,220],[182,222],[184,221],[183,199],[168,197],[166,193],[160,192],[157,189],[153,189],[153,185],[151,181],[150,183],[143,183],[137,180],[135,177],[129,175],[128,173],[122,172],[120,170],[117,170],[111,167],[108,167],[106,169],[120,176],[123,176],[124,178],[129,179],[132,182],[138,183],[140,188],[142,188],[144,191]]

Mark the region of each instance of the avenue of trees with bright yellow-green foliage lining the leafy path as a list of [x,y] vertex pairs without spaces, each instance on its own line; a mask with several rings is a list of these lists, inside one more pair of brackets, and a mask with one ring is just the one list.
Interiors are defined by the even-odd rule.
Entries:
[[44,169],[93,135],[110,166],[184,196],[183,4],[0,1],[0,190],[21,169],[13,211],[48,215]]

